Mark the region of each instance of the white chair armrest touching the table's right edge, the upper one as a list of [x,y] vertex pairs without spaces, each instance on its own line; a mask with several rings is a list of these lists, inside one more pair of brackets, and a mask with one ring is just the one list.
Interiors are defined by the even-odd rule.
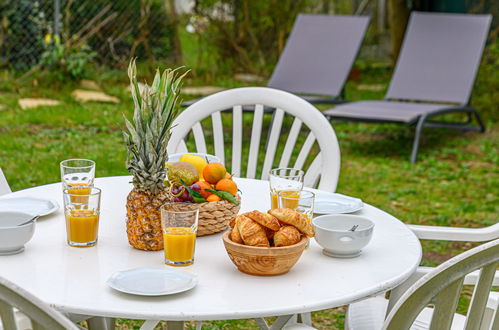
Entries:
[[499,223],[484,228],[408,225],[419,239],[486,242],[499,238]]

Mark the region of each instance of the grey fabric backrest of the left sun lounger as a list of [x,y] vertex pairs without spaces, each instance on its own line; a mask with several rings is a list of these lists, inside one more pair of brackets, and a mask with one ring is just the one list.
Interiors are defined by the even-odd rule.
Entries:
[[298,15],[268,86],[340,95],[368,24],[364,16]]

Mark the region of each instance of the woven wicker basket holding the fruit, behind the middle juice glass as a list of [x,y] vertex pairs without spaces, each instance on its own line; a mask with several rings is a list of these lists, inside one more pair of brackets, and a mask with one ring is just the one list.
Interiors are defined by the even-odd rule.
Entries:
[[219,202],[206,202],[199,204],[199,222],[197,236],[205,236],[224,231],[239,209],[241,208],[241,197],[236,195],[239,205],[232,204],[226,200]]

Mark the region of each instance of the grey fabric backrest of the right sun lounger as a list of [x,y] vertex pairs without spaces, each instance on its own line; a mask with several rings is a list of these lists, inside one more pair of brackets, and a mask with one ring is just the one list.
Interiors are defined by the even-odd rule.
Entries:
[[386,98],[467,104],[491,20],[412,12]]

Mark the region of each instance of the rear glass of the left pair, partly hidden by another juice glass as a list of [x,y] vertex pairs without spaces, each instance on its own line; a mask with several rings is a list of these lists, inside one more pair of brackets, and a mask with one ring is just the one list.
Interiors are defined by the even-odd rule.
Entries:
[[61,162],[62,189],[73,195],[87,195],[94,186],[95,162],[89,159],[66,159]]

